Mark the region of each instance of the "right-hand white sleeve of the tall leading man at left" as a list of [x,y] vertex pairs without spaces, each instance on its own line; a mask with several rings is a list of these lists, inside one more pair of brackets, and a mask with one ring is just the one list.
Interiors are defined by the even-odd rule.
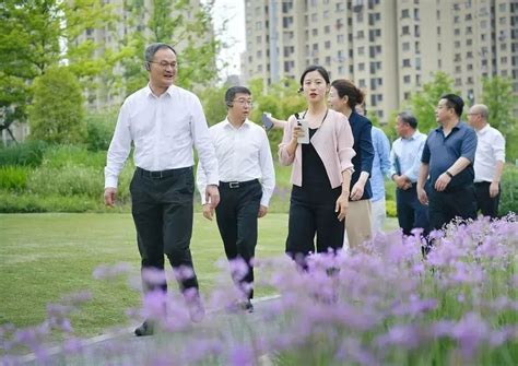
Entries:
[[209,127],[207,126],[205,115],[198,98],[192,103],[191,133],[198,156],[202,163],[202,168],[207,177],[207,185],[219,184],[217,160],[214,145],[212,143]]

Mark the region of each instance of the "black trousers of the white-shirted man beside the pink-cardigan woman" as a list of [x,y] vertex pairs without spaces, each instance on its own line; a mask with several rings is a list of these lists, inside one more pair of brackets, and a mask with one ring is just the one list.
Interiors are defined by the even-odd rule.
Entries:
[[239,290],[248,298],[254,297],[254,267],[251,260],[257,245],[257,214],[262,198],[259,180],[240,184],[220,182],[220,204],[216,221],[225,248],[226,258],[242,259],[246,273],[233,271],[232,276]]

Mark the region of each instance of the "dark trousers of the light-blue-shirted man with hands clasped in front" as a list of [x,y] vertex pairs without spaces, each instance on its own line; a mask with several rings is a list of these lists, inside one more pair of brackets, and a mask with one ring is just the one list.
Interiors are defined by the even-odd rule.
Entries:
[[416,186],[407,190],[396,189],[396,201],[398,210],[399,227],[404,235],[411,235],[415,227],[423,228],[423,235],[429,232],[428,208],[422,204],[417,198]]

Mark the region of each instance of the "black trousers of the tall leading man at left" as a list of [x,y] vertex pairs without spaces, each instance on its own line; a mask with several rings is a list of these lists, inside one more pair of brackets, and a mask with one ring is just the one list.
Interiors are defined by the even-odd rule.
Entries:
[[[195,192],[192,167],[163,172],[137,168],[130,192],[142,270],[164,270],[166,255],[173,269],[184,273],[178,278],[180,288],[198,288],[190,253]],[[185,275],[190,271],[192,275]],[[143,284],[144,291],[157,286],[164,291],[167,288],[166,283],[148,283],[144,278]]]

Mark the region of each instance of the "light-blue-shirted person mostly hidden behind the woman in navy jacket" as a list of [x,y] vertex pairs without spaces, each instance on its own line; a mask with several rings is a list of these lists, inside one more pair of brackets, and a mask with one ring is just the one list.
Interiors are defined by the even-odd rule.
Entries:
[[[356,105],[355,110],[358,115],[367,116],[365,101]],[[370,187],[373,189],[373,198],[370,204],[373,209],[372,225],[373,233],[382,232],[385,221],[387,220],[387,204],[385,201],[385,177],[390,169],[390,142],[385,132],[373,126],[370,137],[373,139],[374,161],[373,172],[370,174]]]

